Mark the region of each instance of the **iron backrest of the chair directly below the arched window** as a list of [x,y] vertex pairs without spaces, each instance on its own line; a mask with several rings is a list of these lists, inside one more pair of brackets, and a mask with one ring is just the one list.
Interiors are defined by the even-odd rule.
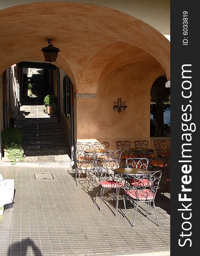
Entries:
[[154,140],[157,157],[170,157],[170,140]]

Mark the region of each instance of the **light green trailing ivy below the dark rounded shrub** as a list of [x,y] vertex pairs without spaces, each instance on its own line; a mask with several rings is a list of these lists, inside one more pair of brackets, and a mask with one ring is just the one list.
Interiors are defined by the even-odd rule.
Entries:
[[7,157],[11,160],[11,164],[16,164],[17,159],[23,162],[24,150],[20,144],[12,142],[10,145],[5,145],[4,151],[7,152]]

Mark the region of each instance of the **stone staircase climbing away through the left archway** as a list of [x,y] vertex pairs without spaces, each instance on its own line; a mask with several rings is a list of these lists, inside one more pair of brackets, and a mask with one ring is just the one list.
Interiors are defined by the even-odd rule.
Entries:
[[44,113],[44,97],[48,93],[42,77],[35,80],[36,77],[35,74],[34,79],[30,79],[33,96],[23,97],[20,115],[15,121],[16,128],[23,132],[24,162],[70,166],[69,146],[63,128],[57,116]]

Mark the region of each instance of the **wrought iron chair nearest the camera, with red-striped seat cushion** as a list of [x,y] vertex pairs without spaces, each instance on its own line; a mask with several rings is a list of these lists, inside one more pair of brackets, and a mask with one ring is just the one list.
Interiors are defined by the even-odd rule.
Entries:
[[138,204],[139,203],[146,204],[146,215],[147,215],[148,206],[150,206],[150,214],[151,214],[151,202],[153,203],[156,218],[157,218],[157,225],[159,226],[154,199],[157,193],[157,189],[159,187],[161,176],[162,176],[162,171],[160,170],[152,171],[152,172],[138,171],[138,172],[135,172],[134,174],[133,188],[129,189],[129,187],[126,187],[126,183],[125,183],[125,186],[124,186],[125,193],[123,196],[124,209],[125,209],[124,217],[126,216],[127,199],[129,199],[133,204],[136,203],[132,227],[134,226]]

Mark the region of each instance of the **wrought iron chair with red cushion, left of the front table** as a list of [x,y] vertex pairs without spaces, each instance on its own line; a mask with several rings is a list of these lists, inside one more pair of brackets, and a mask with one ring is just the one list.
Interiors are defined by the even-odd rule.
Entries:
[[[114,180],[114,174],[113,170],[118,169],[119,163],[117,159],[110,159],[107,162],[102,162],[101,166],[101,173],[99,177],[99,187],[97,190],[97,195],[100,190],[100,211],[102,209],[102,203],[103,203],[103,194],[105,189],[119,189],[124,187],[124,183],[117,183],[117,180]],[[114,192],[114,190],[113,190]],[[94,199],[94,202],[96,202],[97,195]]]

